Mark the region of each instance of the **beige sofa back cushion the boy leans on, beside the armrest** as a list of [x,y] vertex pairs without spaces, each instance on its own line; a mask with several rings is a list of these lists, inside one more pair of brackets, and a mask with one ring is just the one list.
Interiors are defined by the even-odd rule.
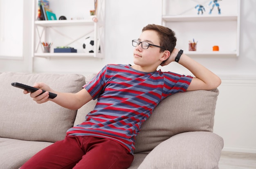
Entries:
[[[90,77],[91,78],[91,77]],[[90,78],[86,77],[85,81]],[[135,153],[148,153],[164,140],[188,131],[213,131],[218,89],[176,93],[162,100],[141,126],[136,137]],[[74,125],[79,125],[97,100],[91,100],[77,111]]]

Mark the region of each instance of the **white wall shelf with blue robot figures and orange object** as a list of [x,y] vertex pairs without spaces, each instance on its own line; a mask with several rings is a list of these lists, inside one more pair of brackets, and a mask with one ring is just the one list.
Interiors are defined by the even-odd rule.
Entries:
[[[240,0],[232,1],[236,3],[234,4],[236,9],[231,12],[209,14],[205,7],[206,11],[198,15],[195,10],[196,4],[209,4],[209,2],[205,0],[186,0],[186,2],[163,0],[162,24],[175,31],[176,47],[183,49],[188,56],[204,58],[239,56]],[[218,1],[218,3],[221,8],[222,1]],[[168,9],[170,5],[177,8],[178,13],[171,13]],[[183,7],[184,11],[179,11]],[[225,7],[223,7],[224,10],[229,9]],[[217,7],[214,8],[213,11],[218,11]],[[195,42],[198,41],[197,51],[189,51],[189,40],[193,41],[193,39]],[[216,45],[220,50],[212,51],[212,47]]]

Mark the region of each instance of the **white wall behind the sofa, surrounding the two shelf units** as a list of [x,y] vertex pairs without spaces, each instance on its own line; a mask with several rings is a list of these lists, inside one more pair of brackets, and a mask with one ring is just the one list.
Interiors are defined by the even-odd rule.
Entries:
[[[0,59],[0,72],[29,71],[29,62],[32,61],[32,7],[30,0],[24,0],[24,4],[24,59]],[[238,58],[195,58],[222,78],[214,132],[224,138],[224,150],[228,151],[256,153],[256,11],[253,7],[256,7],[255,0],[241,0]],[[161,15],[160,0],[106,0],[105,59],[34,58],[34,72],[88,74],[98,72],[108,63],[132,64],[131,40],[139,37],[142,27],[146,24],[161,24]],[[189,73],[177,63],[171,63],[161,69]]]

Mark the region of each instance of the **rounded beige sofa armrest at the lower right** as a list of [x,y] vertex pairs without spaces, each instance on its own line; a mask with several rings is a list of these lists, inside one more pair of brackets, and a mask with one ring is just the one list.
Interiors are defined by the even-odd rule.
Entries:
[[180,133],[155,147],[138,169],[218,169],[223,146],[223,139],[215,133]]

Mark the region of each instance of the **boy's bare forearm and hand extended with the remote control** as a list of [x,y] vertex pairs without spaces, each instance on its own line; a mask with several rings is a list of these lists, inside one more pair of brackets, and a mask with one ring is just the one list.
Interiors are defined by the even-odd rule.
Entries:
[[[56,104],[67,109],[76,110],[82,107],[85,103],[92,100],[92,96],[86,89],[82,89],[77,93],[61,93],[52,90],[48,85],[45,85],[44,83],[36,83],[34,87],[47,91],[41,95],[39,94],[42,93],[42,90],[37,90],[33,93],[30,93],[30,97],[39,104],[51,100],[52,102],[55,102]],[[56,93],[57,97],[54,99],[49,99],[48,91]],[[24,91],[24,93],[27,94],[28,92]]]

